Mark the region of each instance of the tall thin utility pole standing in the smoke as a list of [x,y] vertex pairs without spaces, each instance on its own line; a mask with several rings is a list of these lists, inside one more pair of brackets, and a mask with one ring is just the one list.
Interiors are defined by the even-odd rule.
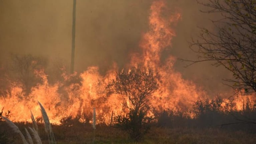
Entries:
[[73,0],[72,50],[71,50],[71,64],[70,64],[71,74],[74,72],[74,59],[75,59],[75,7],[76,7],[76,0]]

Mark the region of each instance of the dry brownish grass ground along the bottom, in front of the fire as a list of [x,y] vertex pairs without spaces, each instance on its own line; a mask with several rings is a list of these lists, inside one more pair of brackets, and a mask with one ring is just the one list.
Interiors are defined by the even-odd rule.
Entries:
[[[16,123],[23,134],[24,127],[31,124]],[[0,128],[1,129],[1,128]],[[73,126],[53,126],[57,144],[91,144],[93,143],[93,129],[91,125],[77,124]],[[48,138],[44,126],[39,125],[39,134],[44,144]],[[13,143],[20,143],[19,137],[10,132]],[[116,128],[97,126],[95,130],[95,144],[134,144],[128,135]],[[228,131],[221,128],[159,128],[153,127],[145,135],[141,144],[255,144],[256,134],[244,131]],[[0,144],[2,144],[0,142]]]

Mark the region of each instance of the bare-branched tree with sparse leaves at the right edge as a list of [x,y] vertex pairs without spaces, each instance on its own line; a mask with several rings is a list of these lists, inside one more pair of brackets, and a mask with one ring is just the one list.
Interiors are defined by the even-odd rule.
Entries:
[[[199,54],[198,60],[213,61],[233,73],[233,79],[224,79],[229,86],[245,92],[256,92],[256,1],[255,0],[209,0],[198,2],[206,6],[205,13],[219,13],[221,18],[213,21],[214,31],[200,28],[198,40],[190,48]],[[209,10],[210,9],[210,10]]]

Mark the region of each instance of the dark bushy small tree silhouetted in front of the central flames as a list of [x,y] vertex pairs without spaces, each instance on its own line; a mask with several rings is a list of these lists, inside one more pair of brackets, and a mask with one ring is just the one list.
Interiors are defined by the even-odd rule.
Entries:
[[150,97],[159,87],[157,80],[158,74],[153,69],[139,66],[122,70],[107,86],[110,93],[122,96],[125,115],[117,116],[116,120],[134,140],[142,138],[150,128],[151,118],[147,113]]

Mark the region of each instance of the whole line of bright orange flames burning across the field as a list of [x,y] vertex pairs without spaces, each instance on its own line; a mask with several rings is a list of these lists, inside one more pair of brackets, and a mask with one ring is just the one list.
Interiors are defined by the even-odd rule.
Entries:
[[[171,46],[176,36],[175,25],[182,19],[182,14],[173,10],[171,15],[163,16],[165,2],[162,0],[152,3],[149,15],[149,31],[141,38],[142,53],[132,54],[127,67],[143,63],[152,67],[161,76],[160,88],[154,93],[150,107],[154,110],[178,109],[190,112],[193,102],[200,97],[208,97],[200,87],[192,81],[184,80],[182,75],[173,69],[176,58],[169,56],[161,61],[161,53]],[[79,117],[81,121],[91,121],[93,108],[96,108],[97,123],[109,124],[111,115],[122,113],[122,102],[118,95],[108,94],[106,85],[115,78],[118,68],[113,64],[112,69],[105,75],[100,75],[98,67],[91,66],[78,74],[62,74],[63,80],[50,85],[44,70],[35,70],[42,83],[38,83],[26,95],[22,84],[12,82],[11,90],[0,98],[0,108],[11,111],[10,120],[30,121],[30,110],[35,118],[41,117],[37,101],[44,106],[50,122],[59,124],[62,118]],[[73,82],[74,77],[80,77],[79,82]],[[71,82],[71,83],[70,83]],[[251,102],[253,97],[248,97]],[[246,98],[239,96],[234,100],[237,109],[242,110]],[[226,100],[228,103],[229,100]],[[224,107],[224,106],[223,106]]]

